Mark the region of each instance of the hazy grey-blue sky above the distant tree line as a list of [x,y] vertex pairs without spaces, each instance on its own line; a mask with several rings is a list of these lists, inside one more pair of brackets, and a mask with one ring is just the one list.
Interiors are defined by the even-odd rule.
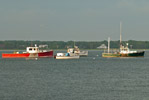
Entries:
[[149,40],[149,0],[1,0],[0,40]]

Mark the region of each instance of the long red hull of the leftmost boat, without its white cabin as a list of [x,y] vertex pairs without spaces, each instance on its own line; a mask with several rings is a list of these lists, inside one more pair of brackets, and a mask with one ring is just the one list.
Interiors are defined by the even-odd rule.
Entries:
[[6,54],[2,53],[2,58],[28,58],[28,57],[53,57],[53,51],[40,53],[22,53],[22,54]]

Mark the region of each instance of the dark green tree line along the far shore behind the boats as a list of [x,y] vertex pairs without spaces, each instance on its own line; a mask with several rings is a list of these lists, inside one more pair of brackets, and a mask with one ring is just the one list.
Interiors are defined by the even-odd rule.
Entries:
[[[110,48],[119,48],[120,41],[111,41]],[[149,49],[149,41],[122,41],[122,44],[129,43],[129,47],[132,49]],[[1,50],[11,50],[11,49],[26,49],[28,46],[34,46],[34,44],[48,45],[49,49],[67,49],[68,47],[73,47],[74,44],[80,49],[97,49],[102,44],[108,45],[106,40],[104,41],[23,41],[23,40],[5,40],[0,41]]]

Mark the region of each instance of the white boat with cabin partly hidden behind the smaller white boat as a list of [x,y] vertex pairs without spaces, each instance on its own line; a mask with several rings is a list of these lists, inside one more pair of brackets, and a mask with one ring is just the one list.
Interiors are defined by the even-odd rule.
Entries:
[[78,46],[74,46],[74,48],[68,48],[67,53],[75,53],[79,56],[88,56],[88,51],[80,51]]

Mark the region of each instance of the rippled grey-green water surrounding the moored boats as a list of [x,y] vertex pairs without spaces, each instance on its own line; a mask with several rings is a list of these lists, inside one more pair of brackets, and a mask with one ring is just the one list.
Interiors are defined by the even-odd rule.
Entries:
[[0,100],[149,100],[149,52],[144,58],[101,53],[76,60],[0,55]]

